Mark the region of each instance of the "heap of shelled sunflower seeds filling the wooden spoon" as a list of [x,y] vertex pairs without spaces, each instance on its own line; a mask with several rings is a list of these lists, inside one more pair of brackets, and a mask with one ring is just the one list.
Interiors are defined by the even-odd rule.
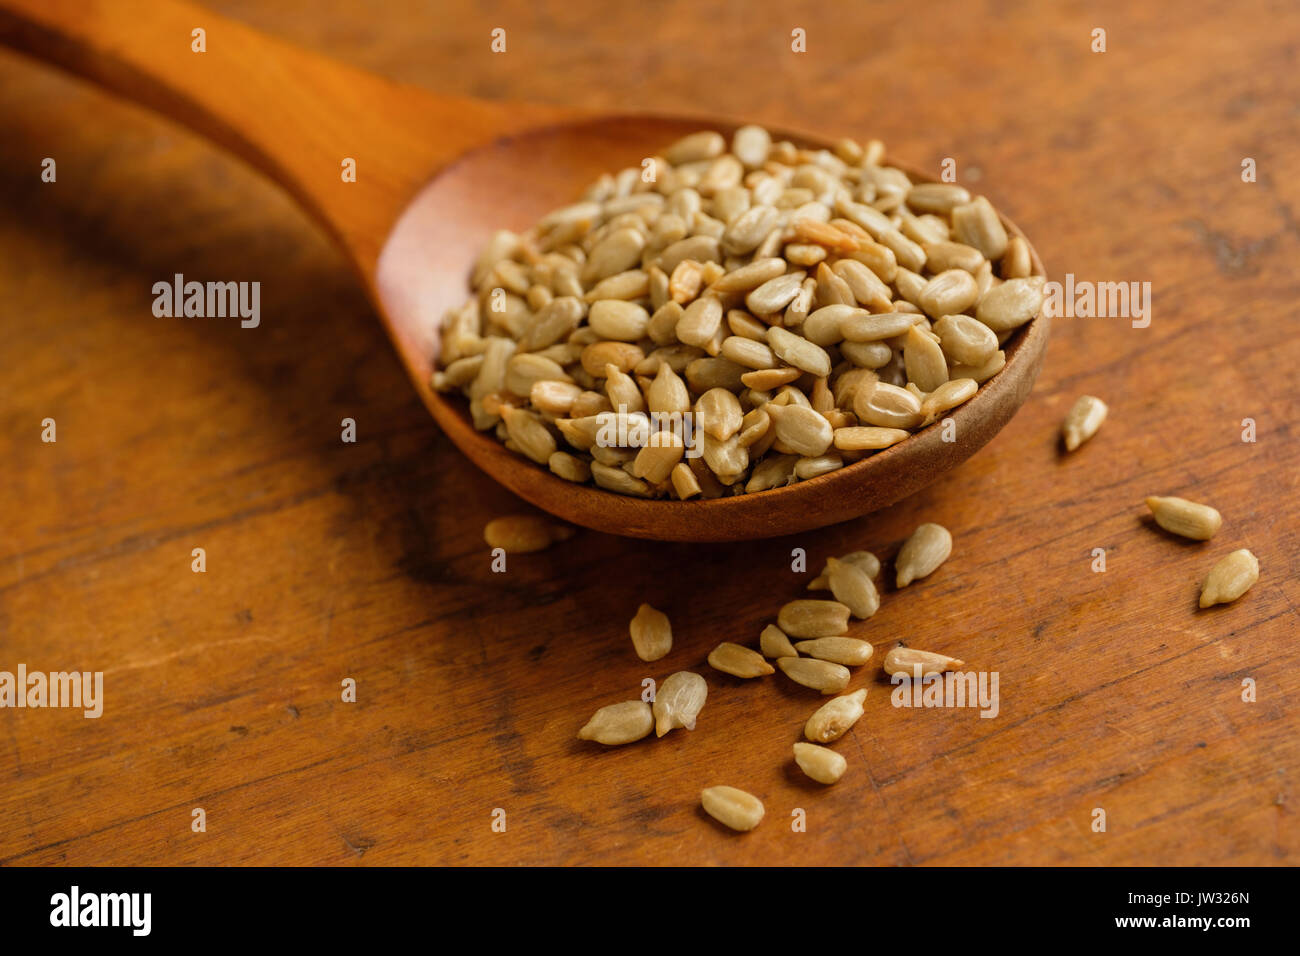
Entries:
[[497,233],[438,390],[560,477],[716,498],[826,475],[968,401],[1044,277],[983,196],[884,147],[696,133]]

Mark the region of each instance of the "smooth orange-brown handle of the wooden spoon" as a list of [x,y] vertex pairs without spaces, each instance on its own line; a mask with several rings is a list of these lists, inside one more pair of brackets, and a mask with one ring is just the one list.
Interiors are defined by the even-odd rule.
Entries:
[[563,116],[394,83],[181,0],[0,0],[0,43],[243,157],[321,220],[372,285],[393,221],[441,166]]

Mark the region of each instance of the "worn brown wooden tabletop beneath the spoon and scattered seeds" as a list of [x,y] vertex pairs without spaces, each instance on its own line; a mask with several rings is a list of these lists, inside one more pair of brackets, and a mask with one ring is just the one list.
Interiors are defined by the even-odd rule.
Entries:
[[[107,697],[98,721],[0,711],[0,862],[1295,862],[1294,7],[213,7],[441,91],[956,157],[1053,277],[1149,281],[1153,321],[1058,319],[1010,425],[888,511],[758,545],[584,532],[494,575],[482,525],[517,503],[439,436],[306,216],[178,127],[0,53],[0,670],[103,670]],[[261,328],[155,319],[151,286],[176,272],[261,281]],[[1112,418],[1062,459],[1084,392]],[[1214,503],[1223,531],[1153,529],[1149,493]],[[997,670],[996,719],[896,710],[874,662],[831,790],[789,756],[820,698],[779,678],[708,672],[693,734],[573,739],[642,678],[757,639],[807,578],[792,548],[888,558],[922,520],[952,528],[953,558],[861,632],[878,658],[906,640]],[[1260,583],[1196,611],[1240,546]],[[656,665],[627,639],[640,601],[676,626]],[[722,831],[697,804],[711,783],[760,795],[768,819]]]

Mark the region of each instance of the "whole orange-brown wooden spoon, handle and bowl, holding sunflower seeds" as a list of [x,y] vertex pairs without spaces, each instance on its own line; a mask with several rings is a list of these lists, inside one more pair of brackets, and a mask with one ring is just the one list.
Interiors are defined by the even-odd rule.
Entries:
[[[204,52],[195,51],[196,30],[204,31]],[[731,541],[855,518],[972,455],[1024,402],[1043,363],[1048,319],[1039,316],[1008,342],[1002,372],[950,414],[957,441],[942,441],[933,425],[781,489],[682,502],[575,485],[476,432],[460,397],[430,389],[438,321],[467,297],[469,265],[493,232],[526,228],[602,172],[640,165],[686,133],[729,134],[734,124],[441,96],[177,1],[0,0],[0,42],[186,124],[289,190],[350,256],[447,437],[515,494],[576,524],[646,538]],[[342,177],[348,159],[355,182]],[[1037,254],[1031,256],[1043,274]]]

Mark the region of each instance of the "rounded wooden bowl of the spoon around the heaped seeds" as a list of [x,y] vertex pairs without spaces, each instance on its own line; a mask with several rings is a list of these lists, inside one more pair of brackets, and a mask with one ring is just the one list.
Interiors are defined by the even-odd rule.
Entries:
[[[1046,317],[1018,330],[1005,346],[1006,367],[946,415],[958,441],[944,441],[936,424],[828,475],[727,498],[651,501],[566,481],[507,450],[490,432],[476,431],[459,393],[430,388],[441,316],[465,300],[471,267],[495,230],[521,232],[576,202],[601,173],[640,165],[706,127],[728,137],[734,130],[733,124],[660,116],[595,117],[529,130],[464,155],[420,191],[380,255],[377,289],[415,388],[447,437],[543,511],[597,531],[667,541],[737,541],[835,524],[892,505],[975,454],[1028,397],[1043,364]],[[831,146],[798,133],[774,137],[812,148]],[[1014,224],[1004,224],[1009,234],[1020,235]],[[1041,274],[1032,243],[1031,259],[1035,274]]]

